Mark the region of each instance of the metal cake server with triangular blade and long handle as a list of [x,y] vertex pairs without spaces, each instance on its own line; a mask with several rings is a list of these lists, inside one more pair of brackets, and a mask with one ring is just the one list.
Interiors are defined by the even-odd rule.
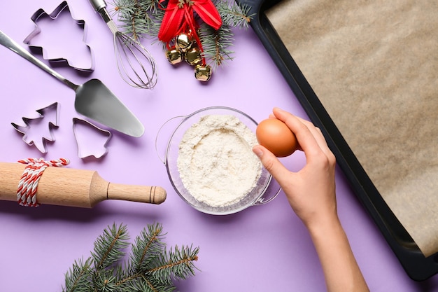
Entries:
[[91,79],[83,85],[71,83],[27,50],[24,50],[1,30],[0,44],[73,89],[76,92],[75,109],[81,115],[132,137],[140,137],[144,133],[144,127],[139,119],[98,79]]

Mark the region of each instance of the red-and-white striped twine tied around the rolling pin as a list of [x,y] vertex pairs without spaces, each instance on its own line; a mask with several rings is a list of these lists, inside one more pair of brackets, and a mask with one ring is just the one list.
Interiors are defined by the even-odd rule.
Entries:
[[69,165],[70,161],[64,158],[58,160],[45,161],[43,158],[27,158],[18,162],[27,165],[21,176],[20,183],[17,188],[17,201],[24,207],[38,207],[36,200],[36,190],[38,181],[43,175],[44,169],[47,167],[63,167]]

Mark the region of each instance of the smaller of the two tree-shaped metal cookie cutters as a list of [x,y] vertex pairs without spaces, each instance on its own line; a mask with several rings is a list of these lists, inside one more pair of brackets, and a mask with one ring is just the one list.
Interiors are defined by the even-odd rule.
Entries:
[[[50,141],[50,142],[55,141],[55,137],[53,137],[53,134],[52,134],[52,129],[54,127],[58,127],[58,116],[59,116],[58,103],[55,102],[53,104],[50,104],[49,106],[45,106],[42,109],[36,110],[36,112],[39,114],[39,116],[36,118],[22,117],[22,120],[24,121],[25,126],[17,125],[15,123],[11,123],[11,125],[13,125],[15,130],[17,130],[18,132],[23,134],[22,139],[27,145],[29,145],[29,146],[35,145],[36,148],[41,153],[47,153],[47,149],[45,147],[46,142],[47,141]],[[45,120],[45,118],[48,118],[50,113],[55,113],[54,120],[51,120],[50,118],[49,118],[49,120]],[[46,122],[48,127],[45,130],[45,134],[40,134],[40,136],[38,136],[38,137],[41,137],[41,141],[35,141],[34,138],[31,138],[31,134],[34,134],[34,133],[32,133],[33,132],[32,128],[36,129],[36,125],[38,123],[41,123],[41,122]],[[34,125],[34,127],[32,125]],[[36,134],[38,134],[38,133],[36,133]],[[35,134],[33,136],[35,136]]]

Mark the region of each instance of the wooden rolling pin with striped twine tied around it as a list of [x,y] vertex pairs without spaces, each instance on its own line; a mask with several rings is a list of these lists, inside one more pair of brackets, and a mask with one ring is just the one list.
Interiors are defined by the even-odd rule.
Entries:
[[[17,187],[26,165],[0,162],[0,200],[17,201]],[[38,183],[39,204],[92,208],[104,200],[161,204],[166,190],[159,186],[110,183],[92,170],[47,167]]]

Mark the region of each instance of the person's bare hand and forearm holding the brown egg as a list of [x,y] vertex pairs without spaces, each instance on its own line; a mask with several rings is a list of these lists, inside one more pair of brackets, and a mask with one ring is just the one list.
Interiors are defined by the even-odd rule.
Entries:
[[309,230],[325,274],[327,291],[369,292],[337,216],[334,172],[336,160],[312,123],[274,109],[271,118],[282,120],[297,137],[306,165],[290,172],[267,148],[254,146],[254,153],[274,176],[290,206]]

